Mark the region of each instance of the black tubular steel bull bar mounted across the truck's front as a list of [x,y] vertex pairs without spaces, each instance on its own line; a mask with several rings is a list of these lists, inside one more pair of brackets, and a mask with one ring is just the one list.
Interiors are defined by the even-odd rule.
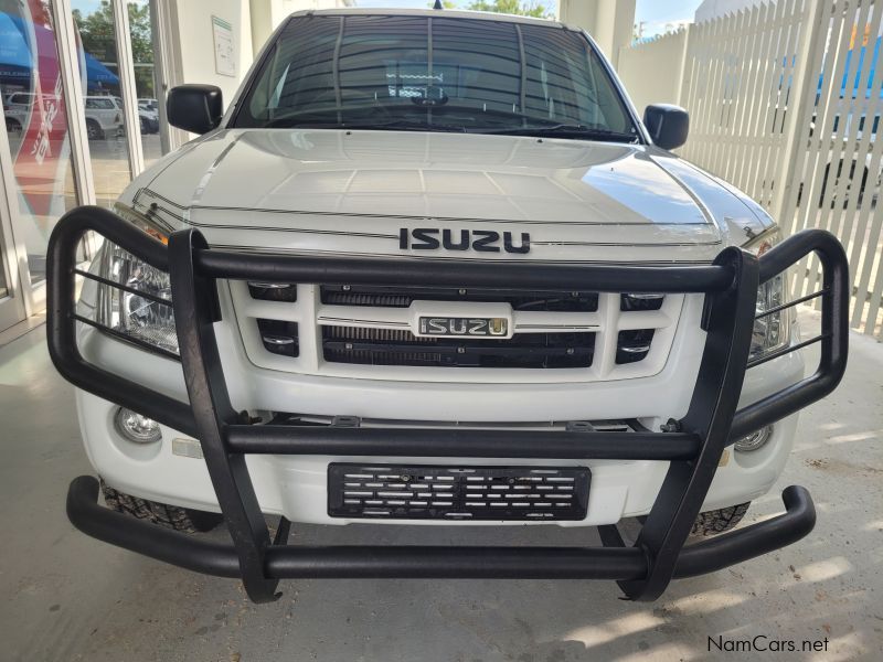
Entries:
[[[168,270],[190,403],[150,391],[87,363],[76,342],[76,247],[93,231],[151,266]],[[748,363],[758,284],[815,253],[823,268],[821,345],[811,376],[736,410]],[[377,429],[251,425],[230,402],[213,323],[220,319],[216,279],[328,285],[704,292],[708,332],[687,415],[668,433],[496,431]],[[804,299],[801,299],[804,300]],[[159,528],[97,504],[92,477],[73,481],[67,513],[88,535],[192,570],[242,578],[256,602],[274,600],[280,578],[593,578],[616,579],[626,596],[653,600],[674,577],[721,569],[783,547],[815,524],[809,493],[789,487],[786,512],[698,544],[684,546],[724,449],[829,394],[840,382],[848,350],[849,273],[839,242],[804,231],[759,259],[724,249],[706,266],[607,266],[426,263],[352,259],[212,249],[195,229],[168,243],[145,234],[107,210],[84,206],[57,223],[49,246],[49,350],[74,385],[131,408],[200,440],[232,544]],[[794,306],[796,302],[785,307]],[[792,351],[781,350],[780,353]],[[774,356],[775,357],[775,356]],[[755,362],[756,364],[757,362]],[[287,545],[283,520],[274,540],[245,463],[247,453],[374,457],[619,459],[669,461],[659,495],[634,545],[616,526],[599,527],[599,547],[338,546]]]

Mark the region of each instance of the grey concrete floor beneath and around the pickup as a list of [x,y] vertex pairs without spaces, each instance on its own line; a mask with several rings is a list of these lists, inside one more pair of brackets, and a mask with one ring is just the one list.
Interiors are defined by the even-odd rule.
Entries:
[[[762,659],[716,653],[709,638],[828,639],[819,660],[883,650],[883,346],[855,335],[841,388],[801,419],[780,480],[816,498],[816,531],[715,575],[678,581],[655,604],[591,581],[309,580],[249,604],[236,581],[109,547],[64,515],[91,468],[73,389],[38,329],[0,348],[0,659],[568,662]],[[778,492],[748,520],[780,510]],[[538,540],[541,537],[541,541]],[[574,530],[296,527],[292,542],[596,543]],[[712,647],[712,653],[709,647]]]

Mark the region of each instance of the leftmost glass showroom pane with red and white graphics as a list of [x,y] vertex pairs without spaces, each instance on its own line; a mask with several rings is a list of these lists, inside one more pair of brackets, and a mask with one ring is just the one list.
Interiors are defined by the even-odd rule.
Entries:
[[46,242],[77,195],[52,4],[0,0],[0,96],[3,99],[18,226],[31,285],[45,280]]

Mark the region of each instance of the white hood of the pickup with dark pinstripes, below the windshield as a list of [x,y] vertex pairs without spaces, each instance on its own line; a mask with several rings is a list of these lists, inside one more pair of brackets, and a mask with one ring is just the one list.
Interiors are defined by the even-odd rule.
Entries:
[[[297,253],[708,261],[733,225],[758,225],[719,183],[641,146],[464,134],[220,131],[126,197],[212,245]],[[402,228],[529,233],[531,250],[403,250]]]

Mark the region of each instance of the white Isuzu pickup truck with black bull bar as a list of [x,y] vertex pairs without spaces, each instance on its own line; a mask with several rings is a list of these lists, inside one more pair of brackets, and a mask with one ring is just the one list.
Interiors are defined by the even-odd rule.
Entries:
[[[223,108],[172,89],[169,121],[202,136],[52,237],[50,351],[108,506],[75,479],[78,528],[255,601],[292,577],[607,578],[651,600],[812,528],[790,487],[722,533],[843,374],[843,252],[781,241],[671,153],[687,113],[641,119],[585,32],[296,13]],[[822,333],[801,342],[785,270],[810,254]],[[201,533],[221,522],[230,540]],[[300,522],[602,544],[310,548],[287,543]]]

